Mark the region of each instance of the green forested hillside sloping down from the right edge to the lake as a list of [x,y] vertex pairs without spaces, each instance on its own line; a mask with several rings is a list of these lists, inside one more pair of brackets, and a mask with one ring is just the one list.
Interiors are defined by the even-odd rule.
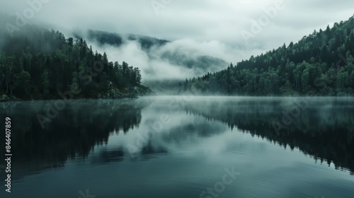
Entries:
[[181,93],[354,95],[354,18],[316,30],[297,43],[186,79]]

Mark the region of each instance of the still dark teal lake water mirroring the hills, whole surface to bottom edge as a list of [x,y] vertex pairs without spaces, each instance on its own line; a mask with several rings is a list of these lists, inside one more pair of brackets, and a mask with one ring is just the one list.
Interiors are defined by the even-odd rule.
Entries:
[[8,193],[1,133],[0,197],[354,197],[353,98],[52,100],[0,111],[13,153]]

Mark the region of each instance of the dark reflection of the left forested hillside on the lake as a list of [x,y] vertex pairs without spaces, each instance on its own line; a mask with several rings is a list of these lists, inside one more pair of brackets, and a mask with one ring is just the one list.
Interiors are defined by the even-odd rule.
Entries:
[[[96,145],[108,143],[111,134],[127,133],[139,127],[142,108],[149,100],[76,100],[45,123],[37,115],[47,115],[47,104],[55,101],[0,103],[0,120],[11,118],[12,178],[47,168],[64,167],[68,158],[88,156]],[[0,128],[4,129],[1,122]],[[1,148],[4,139],[1,138]],[[4,149],[0,155],[4,156]],[[101,163],[119,161],[124,152],[101,151]],[[112,159],[114,158],[114,160]]]

